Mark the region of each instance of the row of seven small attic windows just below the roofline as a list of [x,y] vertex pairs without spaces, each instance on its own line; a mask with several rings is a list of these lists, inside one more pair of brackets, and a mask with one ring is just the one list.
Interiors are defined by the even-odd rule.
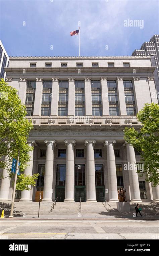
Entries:
[[[36,68],[36,63],[30,63],[31,68]],[[52,63],[45,63],[46,68],[51,68]],[[77,68],[82,68],[83,67],[83,62],[76,62],[76,67]],[[92,67],[99,67],[99,62],[92,62]],[[108,67],[114,67],[114,62],[108,62]],[[123,62],[123,67],[130,67],[129,62]],[[67,68],[67,62],[61,62],[61,68]]]

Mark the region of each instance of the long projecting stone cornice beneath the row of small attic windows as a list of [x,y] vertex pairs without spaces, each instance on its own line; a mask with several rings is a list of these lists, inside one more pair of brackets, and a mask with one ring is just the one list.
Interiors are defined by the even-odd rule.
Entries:
[[[154,72],[156,67],[98,67],[98,68],[92,68],[92,67],[83,67],[81,69],[82,73],[116,73],[116,72],[124,72],[124,73],[132,73],[134,74],[134,69],[136,70],[136,73],[138,72]],[[50,75],[54,75],[55,73],[76,73],[78,68],[30,68],[30,67],[21,67],[21,68],[5,68],[6,73],[22,73],[25,69],[25,75],[30,73],[36,73],[36,76],[38,73],[49,73]],[[81,75],[80,74],[80,75]],[[77,75],[76,75],[77,77]]]

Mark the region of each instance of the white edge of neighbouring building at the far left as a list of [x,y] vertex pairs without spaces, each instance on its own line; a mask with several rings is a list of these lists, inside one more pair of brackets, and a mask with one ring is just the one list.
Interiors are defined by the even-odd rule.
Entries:
[[4,46],[0,40],[0,78],[6,77],[5,68],[9,66],[9,57],[4,49]]

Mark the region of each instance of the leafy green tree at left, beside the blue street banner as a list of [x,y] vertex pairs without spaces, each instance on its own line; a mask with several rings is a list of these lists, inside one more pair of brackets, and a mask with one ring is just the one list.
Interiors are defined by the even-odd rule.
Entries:
[[[13,158],[17,159],[19,152],[20,172],[23,172],[29,162],[29,152],[33,150],[27,144],[27,138],[31,129],[32,122],[26,119],[25,106],[17,95],[17,90],[8,86],[4,79],[0,80],[0,158],[7,157],[7,163],[1,161],[0,167],[5,168],[9,178],[14,177],[11,173],[11,163]],[[9,165],[8,165],[9,162]],[[16,189],[30,190],[29,185],[35,186],[35,180],[39,174],[18,175]],[[5,177],[1,177],[4,179]],[[26,185],[24,185],[26,184]]]

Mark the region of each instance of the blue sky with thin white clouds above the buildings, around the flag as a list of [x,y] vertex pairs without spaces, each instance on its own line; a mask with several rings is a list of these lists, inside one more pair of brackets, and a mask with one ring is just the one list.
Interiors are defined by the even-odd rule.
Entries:
[[0,0],[0,39],[9,56],[78,56],[69,33],[81,22],[81,56],[131,55],[159,33],[158,11],[158,0]]

